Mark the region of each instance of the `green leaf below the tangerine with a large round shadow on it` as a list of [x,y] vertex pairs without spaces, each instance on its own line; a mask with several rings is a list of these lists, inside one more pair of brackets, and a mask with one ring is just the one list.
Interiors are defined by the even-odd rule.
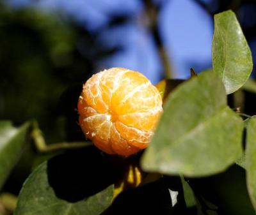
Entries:
[[101,214],[113,200],[108,174],[106,160],[94,147],[56,156],[28,177],[15,215]]

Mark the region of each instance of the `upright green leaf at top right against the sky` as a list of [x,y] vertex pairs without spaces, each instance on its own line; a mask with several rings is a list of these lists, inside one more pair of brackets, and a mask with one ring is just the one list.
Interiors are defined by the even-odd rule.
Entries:
[[222,79],[227,94],[246,82],[252,65],[252,54],[236,15],[231,10],[214,15],[212,69]]

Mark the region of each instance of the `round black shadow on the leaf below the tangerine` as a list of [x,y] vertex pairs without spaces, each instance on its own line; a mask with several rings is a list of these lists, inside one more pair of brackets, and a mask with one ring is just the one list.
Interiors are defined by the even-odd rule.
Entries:
[[78,202],[113,184],[109,161],[95,147],[61,154],[47,163],[49,184],[58,198]]

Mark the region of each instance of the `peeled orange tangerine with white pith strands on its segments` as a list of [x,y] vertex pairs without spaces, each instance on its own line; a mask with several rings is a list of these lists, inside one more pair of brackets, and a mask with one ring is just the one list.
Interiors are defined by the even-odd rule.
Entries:
[[111,68],[83,85],[78,112],[83,133],[96,147],[129,156],[148,146],[163,108],[159,91],[144,75]]

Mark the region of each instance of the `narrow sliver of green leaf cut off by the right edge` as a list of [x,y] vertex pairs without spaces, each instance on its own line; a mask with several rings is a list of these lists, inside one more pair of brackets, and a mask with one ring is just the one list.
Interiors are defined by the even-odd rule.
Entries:
[[256,116],[246,126],[246,180],[247,188],[256,210]]

